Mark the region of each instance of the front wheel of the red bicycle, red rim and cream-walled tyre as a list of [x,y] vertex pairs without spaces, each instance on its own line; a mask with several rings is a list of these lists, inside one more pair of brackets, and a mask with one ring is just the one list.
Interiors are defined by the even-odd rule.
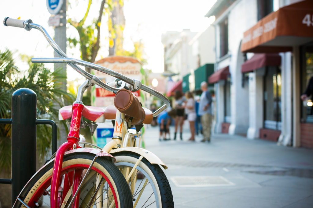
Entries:
[[[71,201],[71,184],[76,180],[82,181],[95,155],[80,152],[64,155],[62,164],[62,182],[58,192],[59,207],[67,207]],[[50,207],[50,185],[53,161],[39,170],[23,188],[19,198],[28,206],[38,204]],[[79,179],[80,178],[80,179]],[[67,185],[66,185],[67,184]],[[79,182],[80,184],[80,182]],[[67,186],[67,188],[66,188]],[[68,191],[66,191],[68,190]],[[131,192],[121,172],[109,160],[98,157],[91,171],[85,177],[79,193],[79,207],[133,207]],[[36,203],[38,203],[36,205]],[[23,206],[16,201],[14,207]]]

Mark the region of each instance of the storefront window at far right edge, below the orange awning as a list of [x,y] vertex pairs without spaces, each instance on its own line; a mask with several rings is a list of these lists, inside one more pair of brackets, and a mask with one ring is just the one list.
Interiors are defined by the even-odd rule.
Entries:
[[313,77],[313,44],[305,46],[303,48],[302,56],[303,60],[303,67],[302,67],[302,78],[301,78],[301,94],[308,94],[308,98],[303,101],[302,104],[302,122],[313,123],[313,97],[312,97],[312,86],[311,89],[309,85],[309,80]]

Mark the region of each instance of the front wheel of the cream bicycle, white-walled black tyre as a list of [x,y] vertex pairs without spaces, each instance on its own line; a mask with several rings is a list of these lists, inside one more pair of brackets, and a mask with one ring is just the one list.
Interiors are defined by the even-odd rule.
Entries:
[[[117,152],[112,155],[116,158],[115,165],[127,179],[140,155],[134,152]],[[144,175],[143,179],[137,179],[139,171]],[[171,186],[163,170],[145,158],[138,163],[128,185],[133,194],[134,207],[174,207]]]

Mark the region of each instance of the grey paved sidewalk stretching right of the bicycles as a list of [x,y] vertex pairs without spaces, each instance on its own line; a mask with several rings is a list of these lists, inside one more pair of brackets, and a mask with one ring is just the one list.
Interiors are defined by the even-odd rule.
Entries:
[[175,207],[313,207],[313,150],[228,134],[189,142],[184,127],[183,141],[159,142],[158,127],[145,133],[168,166]]

